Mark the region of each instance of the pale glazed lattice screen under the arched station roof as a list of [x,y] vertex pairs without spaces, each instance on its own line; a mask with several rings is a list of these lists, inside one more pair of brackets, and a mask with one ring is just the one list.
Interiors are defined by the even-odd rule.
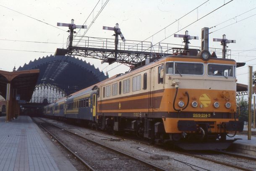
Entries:
[[48,103],[53,103],[56,100],[65,97],[66,93],[59,87],[51,84],[39,84],[35,87],[31,103],[42,103],[44,99],[47,99]]

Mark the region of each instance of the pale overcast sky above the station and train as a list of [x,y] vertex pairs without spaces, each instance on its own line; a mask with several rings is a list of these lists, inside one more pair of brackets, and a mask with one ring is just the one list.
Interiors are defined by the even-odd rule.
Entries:
[[[126,40],[144,41],[148,38],[145,41],[153,44],[160,41],[182,44],[183,40],[174,38],[172,34],[184,34],[188,30],[191,36],[199,36],[199,40],[191,40],[190,45],[201,46],[201,28],[209,27],[209,47],[222,48],[220,42],[213,42],[212,39],[226,34],[227,39],[236,40],[236,43],[228,44],[231,59],[246,61],[246,66],[237,69],[238,82],[248,84],[248,65],[256,66],[256,0],[229,1],[0,0],[0,70],[12,71],[14,66],[18,68],[39,57],[54,55],[56,48],[65,48],[68,28],[58,27],[58,22],[71,23],[74,19],[77,25],[86,21],[89,26],[94,20],[85,36],[114,38],[113,32],[102,30],[102,26],[114,27],[115,23],[119,23]],[[84,31],[78,34],[83,35]],[[118,63],[108,65],[101,64],[98,59],[79,59],[94,64],[109,76],[129,70]]]

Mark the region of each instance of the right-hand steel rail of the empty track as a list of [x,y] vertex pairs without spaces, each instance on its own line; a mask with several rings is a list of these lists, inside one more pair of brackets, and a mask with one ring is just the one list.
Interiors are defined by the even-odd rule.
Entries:
[[[43,120],[43,119],[41,119],[41,118],[39,118],[39,119],[40,119],[40,120]],[[43,121],[46,122],[46,123],[49,123],[49,122],[47,122],[47,121],[45,121],[45,120],[43,120]],[[152,164],[152,163],[149,163],[149,162],[146,162],[146,161],[144,161],[144,160],[141,160],[140,158],[137,158],[137,157],[135,157],[135,156],[131,156],[130,154],[127,154],[127,153],[124,153],[124,152],[122,152],[122,151],[119,151],[119,150],[117,150],[117,149],[115,149],[115,148],[111,148],[111,147],[109,147],[109,146],[107,146],[107,145],[104,145],[104,144],[102,144],[102,143],[98,143],[98,142],[95,142],[94,140],[91,140],[91,139],[89,139],[89,138],[85,138],[85,137],[83,137],[83,136],[81,136],[81,135],[75,134],[75,133],[73,133],[73,132],[71,132],[71,131],[69,131],[69,130],[66,130],[66,129],[64,129],[64,128],[61,128],[60,126],[55,125],[55,124],[53,124],[53,123],[50,123],[50,124],[53,125],[53,126],[55,126],[55,127],[57,127],[57,128],[63,129],[64,131],[66,131],[66,132],[68,132],[68,133],[71,133],[71,134],[76,135],[76,136],[78,136],[78,137],[80,137],[80,138],[83,138],[83,139],[85,139],[85,140],[87,140],[87,141],[89,141],[89,142],[91,142],[91,143],[100,145],[100,146],[102,146],[102,147],[104,147],[104,148],[107,148],[107,149],[109,149],[109,150],[111,150],[111,151],[114,151],[114,152],[116,152],[116,153],[120,153],[120,154],[122,154],[122,155],[124,155],[124,156],[128,156],[128,157],[130,157],[130,158],[133,158],[133,159],[135,159],[135,160],[137,160],[137,161],[140,161],[140,162],[142,162],[142,163],[144,163],[144,164],[146,164],[146,165],[148,165],[148,166],[150,166],[150,167],[152,167],[152,168],[156,168],[157,171],[168,171],[168,170],[166,170],[165,168],[161,168],[161,167],[156,166],[156,165],[154,165],[154,164]]]

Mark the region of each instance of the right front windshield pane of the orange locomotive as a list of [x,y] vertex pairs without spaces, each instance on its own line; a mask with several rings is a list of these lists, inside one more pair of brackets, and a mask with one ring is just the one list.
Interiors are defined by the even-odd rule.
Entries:
[[222,77],[234,77],[234,66],[232,65],[219,65],[208,64],[209,76],[222,76]]

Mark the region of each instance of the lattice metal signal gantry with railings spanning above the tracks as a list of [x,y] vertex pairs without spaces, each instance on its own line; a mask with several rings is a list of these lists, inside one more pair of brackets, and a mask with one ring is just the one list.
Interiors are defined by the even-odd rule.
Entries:
[[[177,50],[184,51],[180,44],[171,43],[158,43],[153,45],[149,41],[119,41],[118,50],[115,50],[115,39],[97,38],[97,37],[82,37],[76,36],[70,45],[70,36],[67,41],[67,49],[57,48],[55,55],[74,55],[83,56],[87,58],[94,58],[102,60],[102,63],[120,62],[130,65],[137,65],[145,59],[159,58],[167,55],[172,55]],[[199,46],[190,46],[191,48],[198,49]],[[215,52],[217,56],[222,55],[221,48],[209,48],[210,52]],[[117,53],[117,54],[115,54]],[[227,50],[228,58],[231,54]],[[116,57],[115,57],[116,56]]]

